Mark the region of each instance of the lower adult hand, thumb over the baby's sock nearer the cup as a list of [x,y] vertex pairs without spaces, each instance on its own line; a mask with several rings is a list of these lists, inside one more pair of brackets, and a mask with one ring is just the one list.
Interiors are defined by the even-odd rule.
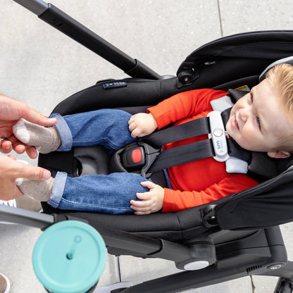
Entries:
[[51,176],[49,170],[26,165],[16,161],[13,156],[0,154],[0,199],[8,201],[23,195],[16,186],[16,178],[30,180],[47,180]]

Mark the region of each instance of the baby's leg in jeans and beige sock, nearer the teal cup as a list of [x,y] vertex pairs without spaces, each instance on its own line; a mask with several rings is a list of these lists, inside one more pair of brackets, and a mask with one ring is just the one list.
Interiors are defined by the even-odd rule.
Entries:
[[133,173],[68,177],[58,172],[47,181],[23,180],[18,187],[32,199],[47,201],[54,208],[99,213],[133,213],[130,200],[137,192],[148,192],[140,182],[144,177]]

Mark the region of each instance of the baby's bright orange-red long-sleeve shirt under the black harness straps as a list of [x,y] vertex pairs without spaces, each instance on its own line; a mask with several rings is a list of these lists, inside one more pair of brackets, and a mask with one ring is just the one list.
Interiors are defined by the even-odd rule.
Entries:
[[[210,102],[227,94],[213,89],[194,89],[176,94],[148,109],[158,129],[173,123],[178,125],[189,120],[206,117],[213,111]],[[206,139],[206,135],[173,142],[164,149]],[[258,184],[243,174],[226,173],[225,163],[214,158],[185,163],[168,169],[173,189],[165,188],[163,212],[181,211],[185,208],[207,204],[229,194],[248,189]]]

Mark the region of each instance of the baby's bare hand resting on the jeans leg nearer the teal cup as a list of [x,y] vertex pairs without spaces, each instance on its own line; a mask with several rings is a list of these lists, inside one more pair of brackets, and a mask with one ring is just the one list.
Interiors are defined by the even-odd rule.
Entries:
[[137,198],[142,201],[130,201],[130,208],[135,211],[135,215],[147,215],[156,213],[163,208],[164,189],[151,181],[144,181],[142,186],[149,188],[149,192],[137,192]]

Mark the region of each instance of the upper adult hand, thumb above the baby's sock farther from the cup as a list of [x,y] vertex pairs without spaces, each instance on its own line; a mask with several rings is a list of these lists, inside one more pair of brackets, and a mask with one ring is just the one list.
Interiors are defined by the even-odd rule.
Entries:
[[27,106],[23,101],[0,94],[0,137],[4,137],[0,142],[0,150],[5,154],[8,154],[12,149],[18,154],[23,154],[26,151],[30,158],[37,158],[34,146],[23,144],[13,135],[12,127],[20,119],[42,126],[52,126],[56,123],[56,118],[47,118]]

